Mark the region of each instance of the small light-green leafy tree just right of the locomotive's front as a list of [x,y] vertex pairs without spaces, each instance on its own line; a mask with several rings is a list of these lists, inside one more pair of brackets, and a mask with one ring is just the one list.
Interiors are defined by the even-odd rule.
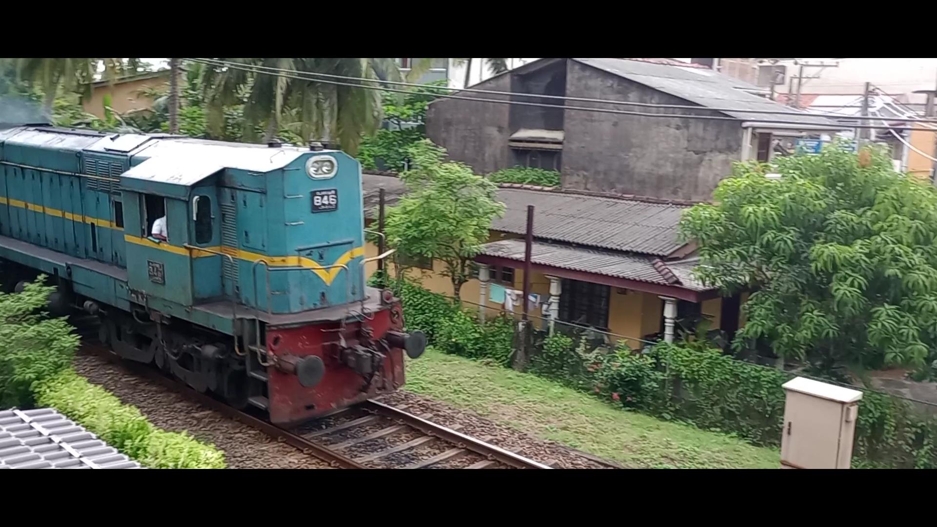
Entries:
[[388,244],[407,256],[439,260],[456,298],[471,279],[472,258],[488,241],[491,220],[503,214],[498,187],[465,163],[445,162],[428,139],[409,149],[414,168],[400,175],[408,193],[387,213]]

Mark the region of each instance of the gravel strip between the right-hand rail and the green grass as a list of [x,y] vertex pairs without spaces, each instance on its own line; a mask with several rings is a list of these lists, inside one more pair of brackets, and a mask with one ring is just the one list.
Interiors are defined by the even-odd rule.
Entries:
[[[461,433],[484,439],[487,443],[514,451],[518,455],[540,461],[556,469],[613,468],[588,459],[562,444],[537,439],[527,433],[497,425],[477,414],[459,410],[432,399],[425,399],[408,391],[402,390],[389,394],[379,400],[394,406],[406,404],[407,412],[410,414],[433,414],[432,421],[444,427],[462,425],[459,429]],[[515,448],[518,450],[514,450]]]

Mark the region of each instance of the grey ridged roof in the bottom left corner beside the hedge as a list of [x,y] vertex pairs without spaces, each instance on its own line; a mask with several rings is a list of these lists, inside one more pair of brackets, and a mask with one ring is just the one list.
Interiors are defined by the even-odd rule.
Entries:
[[0,411],[0,469],[139,469],[52,408]]

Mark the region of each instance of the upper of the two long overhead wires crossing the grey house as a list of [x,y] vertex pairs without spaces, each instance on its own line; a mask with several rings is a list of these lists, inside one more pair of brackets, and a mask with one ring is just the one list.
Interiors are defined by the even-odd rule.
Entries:
[[[257,68],[257,69],[267,70],[267,71],[290,73],[290,74],[303,73],[304,75],[313,75],[313,76],[325,77],[329,79],[342,79],[346,81],[379,82],[382,84],[393,84],[393,85],[399,85],[399,86],[426,88],[430,90],[446,90],[450,92],[480,93],[484,95],[506,95],[506,96],[527,97],[527,98],[540,98],[540,99],[550,98],[550,99],[557,99],[557,100],[573,100],[576,102],[596,102],[596,103],[601,103],[601,104],[611,104],[611,105],[620,105],[620,106],[638,106],[638,107],[647,107],[647,108],[670,108],[670,109],[676,109],[676,110],[697,110],[697,111],[706,110],[710,112],[766,113],[766,114],[777,114],[777,115],[801,115],[801,116],[807,116],[807,117],[830,116],[830,115],[825,115],[823,113],[797,113],[797,112],[792,112],[792,111],[782,112],[780,110],[710,108],[706,106],[692,106],[688,104],[661,104],[661,103],[653,103],[653,102],[634,102],[634,101],[628,101],[628,100],[610,100],[610,99],[604,99],[604,98],[584,98],[584,97],[571,97],[571,96],[558,96],[558,95],[545,95],[545,94],[529,94],[529,93],[521,93],[521,92],[504,92],[504,91],[498,91],[498,90],[480,90],[476,88],[450,88],[448,86],[433,86],[430,84],[405,83],[401,81],[378,81],[378,80],[373,80],[373,79],[363,79],[361,77],[353,77],[349,75],[335,75],[332,73],[318,73],[314,71],[299,72],[299,71],[286,69],[286,68],[274,68],[272,66],[244,65],[244,64],[240,64],[236,62],[219,60],[219,59],[214,59],[214,58],[187,58],[183,60],[201,62],[202,64],[205,64],[206,62],[210,61],[210,62],[215,63],[213,64],[213,66],[222,66],[222,67],[231,67],[231,68],[248,67],[248,68]],[[407,93],[410,93],[410,92],[407,92]],[[902,120],[902,119],[899,119],[899,120]],[[903,120],[907,122],[924,121],[923,119],[903,119]],[[937,119],[928,120],[927,122],[937,123]]]

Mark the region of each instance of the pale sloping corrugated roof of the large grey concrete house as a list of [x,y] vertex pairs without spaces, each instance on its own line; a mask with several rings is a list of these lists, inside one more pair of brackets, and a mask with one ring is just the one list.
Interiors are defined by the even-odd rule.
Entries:
[[[658,64],[645,60],[619,58],[574,58],[576,62],[617,75],[655,90],[689,100],[703,107],[728,108],[721,111],[743,121],[789,121],[803,125],[836,126],[825,117],[800,112],[773,100],[749,93],[754,86],[708,68]],[[764,110],[779,113],[732,112]]]

